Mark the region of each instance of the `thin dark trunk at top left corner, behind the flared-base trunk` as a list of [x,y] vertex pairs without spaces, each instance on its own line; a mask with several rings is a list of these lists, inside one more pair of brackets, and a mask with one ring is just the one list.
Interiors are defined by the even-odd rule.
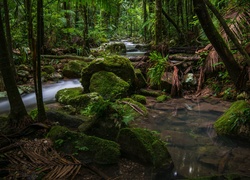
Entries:
[[8,2],[7,0],[3,1],[4,4],[4,15],[5,15],[5,29],[6,29],[6,38],[7,38],[7,45],[8,45],[8,50],[9,50],[9,58],[10,58],[10,65],[11,69],[13,71],[14,77],[17,78],[16,75],[16,68],[15,68],[15,63],[13,59],[13,53],[12,53],[12,38],[10,34],[10,21],[9,21],[9,7],[8,7]]

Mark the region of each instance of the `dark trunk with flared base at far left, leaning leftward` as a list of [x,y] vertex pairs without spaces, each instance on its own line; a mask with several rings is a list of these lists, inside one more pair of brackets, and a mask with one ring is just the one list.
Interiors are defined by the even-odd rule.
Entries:
[[10,103],[10,124],[15,127],[25,126],[27,117],[27,111],[19,94],[15,77],[10,65],[10,58],[8,54],[8,46],[5,38],[3,20],[0,7],[0,71],[2,73],[3,81],[7,91],[9,103]]

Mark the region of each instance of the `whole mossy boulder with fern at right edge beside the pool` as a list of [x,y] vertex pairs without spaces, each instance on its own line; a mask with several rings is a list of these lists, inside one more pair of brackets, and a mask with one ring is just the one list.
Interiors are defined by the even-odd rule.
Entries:
[[250,105],[244,100],[234,102],[214,123],[219,135],[250,138]]

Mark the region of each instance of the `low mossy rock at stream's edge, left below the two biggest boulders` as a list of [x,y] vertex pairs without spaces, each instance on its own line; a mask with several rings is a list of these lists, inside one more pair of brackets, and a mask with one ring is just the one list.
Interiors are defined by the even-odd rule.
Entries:
[[81,87],[61,89],[56,93],[56,101],[75,108],[85,108],[91,103],[103,102],[102,96],[98,93],[83,94],[82,91]]

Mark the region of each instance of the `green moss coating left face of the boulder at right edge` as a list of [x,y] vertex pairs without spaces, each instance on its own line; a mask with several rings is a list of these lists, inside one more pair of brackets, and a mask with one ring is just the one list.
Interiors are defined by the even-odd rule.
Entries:
[[243,113],[243,111],[247,108],[250,108],[250,105],[244,100],[234,102],[231,107],[215,122],[214,127],[216,132],[224,135],[237,135],[240,126],[234,127],[236,125],[235,121],[237,120],[235,113]]

